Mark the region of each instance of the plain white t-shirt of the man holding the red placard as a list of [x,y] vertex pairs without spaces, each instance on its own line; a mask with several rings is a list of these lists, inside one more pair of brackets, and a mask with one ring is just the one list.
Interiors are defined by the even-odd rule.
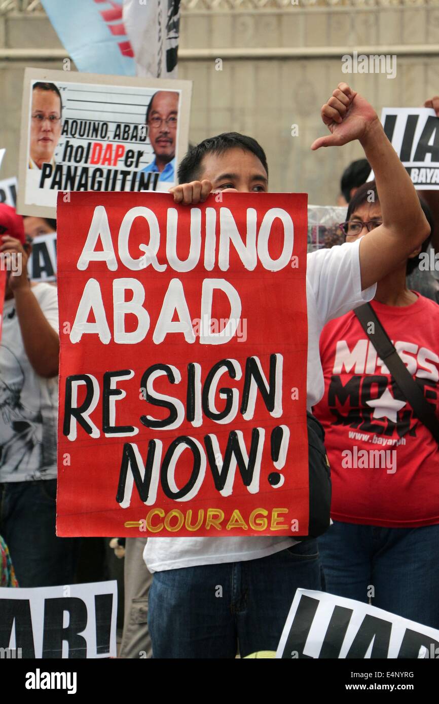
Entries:
[[[323,396],[319,338],[328,320],[371,301],[376,284],[361,292],[359,242],[320,249],[307,256],[308,362],[307,408]],[[149,572],[218,562],[255,560],[289,548],[292,538],[148,538],[143,558]]]

